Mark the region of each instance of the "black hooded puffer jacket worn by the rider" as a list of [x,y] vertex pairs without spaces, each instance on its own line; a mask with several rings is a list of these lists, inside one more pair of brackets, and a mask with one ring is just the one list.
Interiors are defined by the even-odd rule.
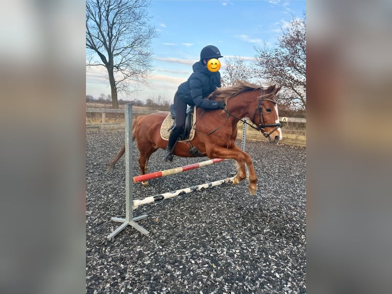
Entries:
[[177,95],[190,106],[217,109],[216,101],[204,98],[210,95],[216,87],[221,88],[221,73],[210,72],[201,61],[195,62],[192,69],[193,73],[188,80],[178,87]]

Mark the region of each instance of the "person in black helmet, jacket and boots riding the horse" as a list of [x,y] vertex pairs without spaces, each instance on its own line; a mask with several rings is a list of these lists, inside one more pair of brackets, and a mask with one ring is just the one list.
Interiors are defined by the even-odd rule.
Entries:
[[193,73],[188,80],[183,82],[174,95],[174,109],[176,112],[175,127],[172,129],[165,150],[165,161],[173,160],[173,149],[181,135],[186,117],[187,104],[203,109],[225,109],[225,102],[204,99],[210,95],[215,88],[221,88],[221,73],[210,72],[207,69],[208,60],[223,57],[219,49],[208,45],[200,52],[200,60],[192,66]]

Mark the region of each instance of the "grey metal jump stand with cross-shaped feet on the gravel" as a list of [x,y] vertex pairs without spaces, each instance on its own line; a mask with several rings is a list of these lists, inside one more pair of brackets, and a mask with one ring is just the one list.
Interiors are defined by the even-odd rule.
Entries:
[[125,219],[112,218],[112,221],[122,222],[117,229],[115,229],[107,239],[111,240],[114,236],[120,233],[128,225],[136,228],[140,233],[148,236],[150,232],[137,224],[136,222],[147,217],[141,215],[136,218],[133,217],[133,143],[132,143],[132,104],[125,104]]

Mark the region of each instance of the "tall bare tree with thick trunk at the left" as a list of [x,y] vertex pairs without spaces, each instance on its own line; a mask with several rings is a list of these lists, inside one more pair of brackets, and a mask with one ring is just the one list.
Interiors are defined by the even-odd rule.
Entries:
[[129,82],[147,82],[152,70],[150,44],[158,34],[149,24],[146,0],[87,0],[86,49],[100,61],[111,87],[112,107],[118,108],[117,93],[129,91]]

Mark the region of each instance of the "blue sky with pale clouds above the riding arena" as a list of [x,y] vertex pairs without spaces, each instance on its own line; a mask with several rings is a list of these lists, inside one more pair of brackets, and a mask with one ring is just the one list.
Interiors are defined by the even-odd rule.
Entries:
[[[137,85],[138,92],[120,92],[119,99],[154,99],[161,96],[172,101],[180,83],[192,73],[192,65],[200,59],[200,51],[214,45],[224,56],[220,58],[221,74],[225,58],[251,60],[255,47],[276,44],[281,29],[293,17],[306,12],[306,0],[285,1],[151,1],[149,16],[159,33],[153,39],[154,71],[147,86]],[[111,93],[105,69],[86,68],[86,95],[98,98]]]

